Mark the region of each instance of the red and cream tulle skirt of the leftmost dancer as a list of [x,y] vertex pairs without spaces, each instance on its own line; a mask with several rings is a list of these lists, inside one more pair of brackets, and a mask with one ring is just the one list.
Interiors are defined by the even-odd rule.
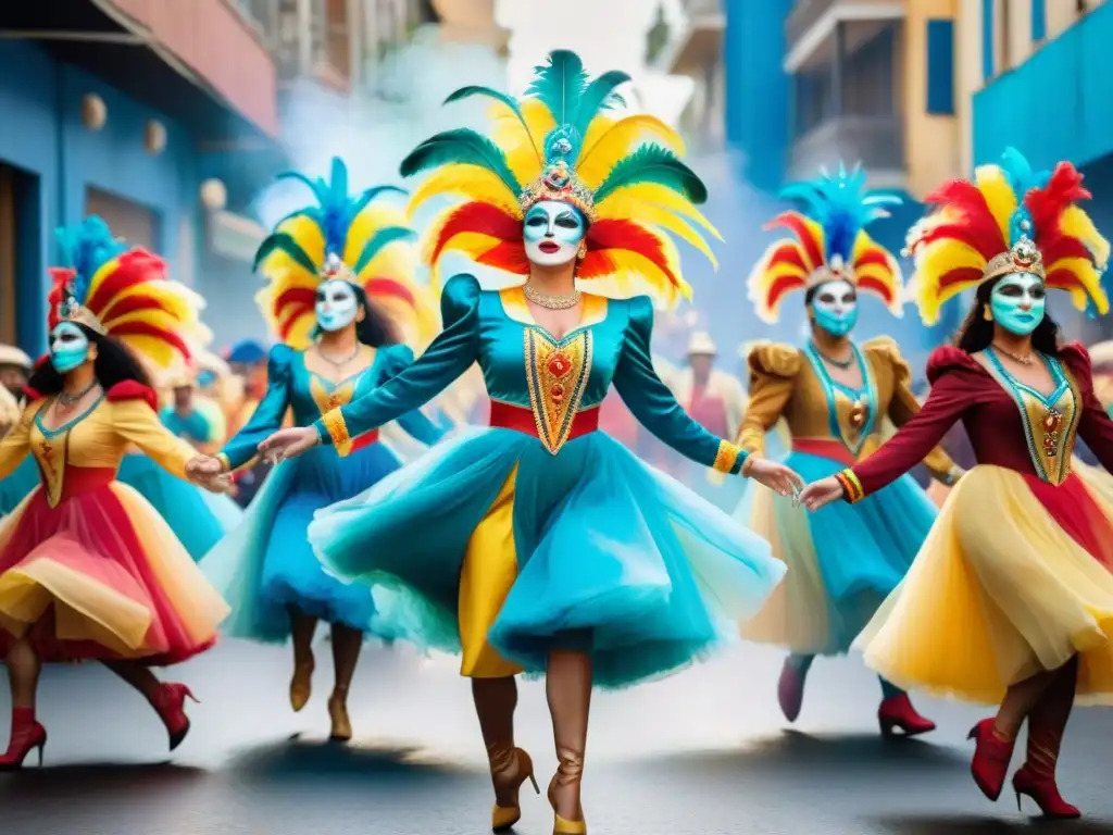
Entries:
[[183,661],[228,613],[173,531],[114,482],[51,508],[35,490],[0,522],[0,652],[30,635],[43,661]]

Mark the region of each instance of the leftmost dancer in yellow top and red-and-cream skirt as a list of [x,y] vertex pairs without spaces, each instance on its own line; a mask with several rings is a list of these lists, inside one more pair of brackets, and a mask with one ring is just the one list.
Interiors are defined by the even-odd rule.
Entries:
[[[68,266],[52,269],[50,353],[31,376],[19,425],[0,443],[0,475],[33,454],[42,483],[0,522],[0,651],[12,695],[0,769],[47,743],[36,720],[43,662],[97,659],[139,690],[166,725],[170,749],[189,730],[189,688],[150,667],[209,648],[227,613],[174,533],[116,481],[138,445],[185,478],[194,450],[158,422],[155,394],[128,350],[162,364],[188,358],[191,296],[166,266],[116,244],[90,217],[61,234]],[[207,485],[219,489],[215,479]]]

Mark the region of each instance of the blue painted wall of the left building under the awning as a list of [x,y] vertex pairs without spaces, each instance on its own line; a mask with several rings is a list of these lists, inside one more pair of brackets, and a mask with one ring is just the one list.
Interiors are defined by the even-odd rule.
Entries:
[[[99,131],[81,124],[87,92],[100,96],[108,108]],[[0,161],[19,169],[29,184],[17,206],[17,304],[20,346],[35,354],[46,346],[46,267],[58,255],[52,230],[81,219],[86,188],[151,209],[158,218],[157,248],[174,269],[181,255],[181,219],[196,212],[197,160],[181,125],[30,42],[0,41]],[[167,147],[158,156],[142,147],[148,119],[167,130]],[[189,254],[194,263],[195,255]]]

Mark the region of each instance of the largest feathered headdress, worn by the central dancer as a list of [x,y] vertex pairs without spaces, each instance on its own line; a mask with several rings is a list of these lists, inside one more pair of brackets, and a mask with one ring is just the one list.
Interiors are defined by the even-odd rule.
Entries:
[[707,189],[680,161],[683,141],[676,131],[652,116],[614,114],[624,104],[614,90],[629,80],[617,71],[589,79],[574,52],[556,50],[535,69],[521,101],[487,87],[449,96],[445,104],[493,99],[494,131],[493,139],[467,128],[437,134],[402,161],[407,177],[435,169],[414,194],[411,212],[437,195],[466,200],[430,228],[423,256],[434,284],[437,263],[451,249],[526,275],[525,212],[540,200],[563,200],[589,223],[575,275],[593,292],[648,293],[664,304],[690,296],[666,233],[716,263],[705,234],[719,234],[693,205],[707,199]]

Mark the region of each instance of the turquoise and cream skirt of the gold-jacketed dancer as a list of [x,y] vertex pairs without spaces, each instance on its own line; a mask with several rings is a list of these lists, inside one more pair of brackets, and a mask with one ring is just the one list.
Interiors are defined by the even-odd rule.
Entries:
[[[804,452],[789,453],[785,464],[808,483],[846,466]],[[910,475],[855,504],[810,513],[750,483],[735,518],[772,543],[788,576],[743,637],[802,655],[846,652],[904,579],[936,510]]]

